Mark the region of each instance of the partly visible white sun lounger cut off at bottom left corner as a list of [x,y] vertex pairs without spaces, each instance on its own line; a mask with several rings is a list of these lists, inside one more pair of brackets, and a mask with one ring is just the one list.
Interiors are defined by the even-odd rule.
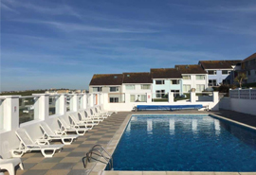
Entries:
[[8,170],[9,175],[15,175],[15,166],[18,165],[21,167],[21,169],[24,169],[20,158],[2,159],[0,156],[0,170]]

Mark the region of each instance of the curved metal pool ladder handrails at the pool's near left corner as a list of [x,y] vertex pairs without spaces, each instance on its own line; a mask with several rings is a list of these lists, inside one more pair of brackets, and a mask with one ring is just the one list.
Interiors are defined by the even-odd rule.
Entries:
[[[94,158],[93,155],[97,155],[99,156],[98,159]],[[104,160],[106,162],[102,162],[100,159],[104,158]],[[109,169],[110,170],[113,170],[113,158],[112,156],[110,155],[110,153],[104,149],[101,145],[95,145],[93,146],[92,149],[90,149],[87,153],[86,153],[86,161],[85,163],[83,162],[83,165],[84,165],[84,168],[86,168],[86,166],[88,165],[88,163],[91,162],[91,159],[94,159],[94,160],[97,160],[101,163],[104,163],[106,165],[109,166]]]

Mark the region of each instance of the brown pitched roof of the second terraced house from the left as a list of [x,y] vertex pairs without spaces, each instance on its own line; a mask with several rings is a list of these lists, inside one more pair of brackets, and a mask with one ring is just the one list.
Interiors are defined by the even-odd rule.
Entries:
[[149,72],[123,73],[123,83],[152,83]]

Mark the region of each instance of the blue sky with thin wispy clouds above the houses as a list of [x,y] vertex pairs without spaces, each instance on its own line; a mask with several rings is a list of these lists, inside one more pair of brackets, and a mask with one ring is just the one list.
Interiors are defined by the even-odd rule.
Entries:
[[94,74],[244,60],[255,17],[255,0],[1,0],[1,91],[88,89]]

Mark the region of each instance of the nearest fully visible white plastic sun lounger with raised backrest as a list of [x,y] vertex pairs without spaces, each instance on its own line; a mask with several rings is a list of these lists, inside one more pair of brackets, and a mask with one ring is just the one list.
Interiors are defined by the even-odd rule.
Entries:
[[[56,150],[61,151],[64,145],[49,145],[46,139],[37,139],[35,142],[32,141],[25,129],[18,129],[16,135],[20,139],[21,143],[19,149],[12,149],[12,157],[21,157],[24,153],[32,150],[41,150],[45,157],[52,157]],[[52,151],[52,153],[46,153],[46,150]]]

